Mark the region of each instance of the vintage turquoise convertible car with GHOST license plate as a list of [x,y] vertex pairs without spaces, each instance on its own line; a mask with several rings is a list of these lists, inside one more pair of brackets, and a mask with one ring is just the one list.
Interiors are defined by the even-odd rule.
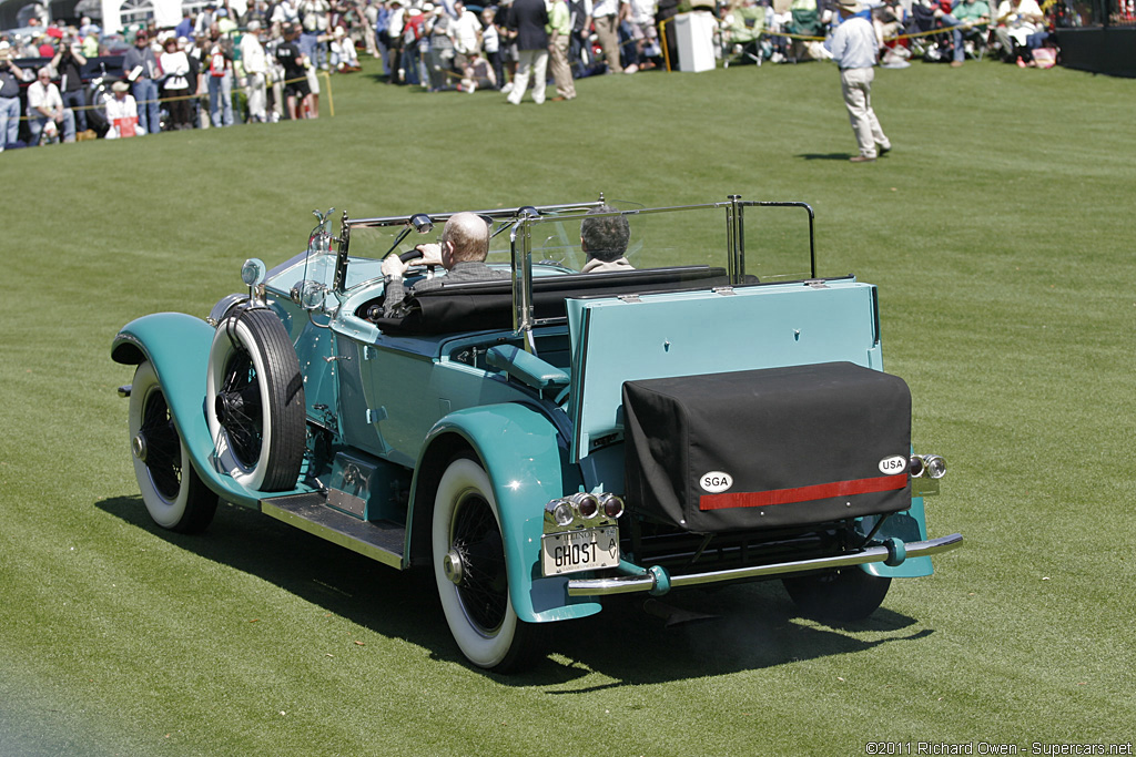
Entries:
[[[610,595],[776,578],[849,621],[961,545],[927,536],[946,466],[912,448],[876,287],[817,275],[808,205],[477,215],[503,278],[443,279],[396,318],[381,261],[453,213],[344,213],[337,235],[317,213],[307,251],[247,261],[208,319],[127,323],[111,354],[136,365],[153,520],[200,531],[220,498],[429,566],[462,654],[500,672]],[[588,218],[626,220],[629,266],[580,272]]]

